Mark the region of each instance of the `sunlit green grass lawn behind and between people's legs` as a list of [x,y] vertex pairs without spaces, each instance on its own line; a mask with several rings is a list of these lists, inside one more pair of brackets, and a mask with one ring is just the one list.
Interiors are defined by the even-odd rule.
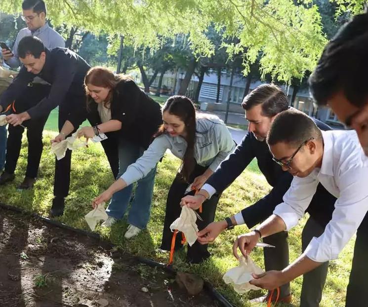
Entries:
[[[23,179],[26,160],[27,142],[23,140],[20,159],[16,170],[16,179],[13,183],[0,189],[0,200],[4,203],[18,206],[27,210],[47,216],[51,199],[53,197],[54,156],[49,153],[50,139],[55,132],[44,132],[45,144],[39,172],[39,180],[35,188],[30,191],[19,192],[16,186]],[[163,263],[168,262],[168,254],[160,253],[158,248],[161,242],[162,227],[164,221],[164,208],[168,188],[179,166],[179,160],[171,154],[166,154],[163,162],[159,163],[158,174],[154,189],[151,219],[147,230],[142,231],[136,238],[125,240],[123,235],[126,230],[126,221],[115,224],[110,230],[97,229],[106,239],[117,244],[122,250],[135,255],[141,255]],[[88,230],[83,216],[91,210],[91,199],[104,191],[113,182],[113,176],[109,164],[100,144],[91,144],[89,148],[77,150],[73,153],[70,194],[66,198],[64,216],[56,220],[72,227]],[[270,187],[264,177],[259,173],[256,161],[252,161],[241,176],[223,193],[216,212],[216,220],[223,219],[231,214],[239,212],[245,206],[264,196]],[[179,204],[178,204],[179,205]],[[323,205],[323,204],[321,204]],[[301,225],[289,233],[290,261],[297,258],[301,251],[301,231],[306,218]],[[248,299],[257,297],[260,291],[250,291],[245,295],[238,295],[231,287],[222,281],[224,272],[237,265],[232,256],[231,248],[236,235],[247,231],[245,226],[237,227],[232,231],[224,231],[211,244],[209,249],[212,257],[203,265],[188,265],[182,252],[175,255],[174,266],[176,269],[192,271],[200,274],[222,293],[234,306],[255,307],[259,304],[249,304]],[[351,240],[344,249],[340,258],[329,265],[327,283],[324,290],[322,307],[344,306],[345,289],[348,282],[353,253],[354,240]],[[262,268],[262,250],[257,249],[252,253],[253,260]],[[301,278],[291,283],[293,305],[299,305]],[[280,305],[282,306],[282,305]]]

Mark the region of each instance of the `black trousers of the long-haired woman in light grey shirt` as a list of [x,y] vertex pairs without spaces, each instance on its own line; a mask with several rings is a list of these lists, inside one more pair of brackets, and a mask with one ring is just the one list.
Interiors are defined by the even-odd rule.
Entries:
[[[194,178],[202,175],[207,167],[197,165],[191,175],[190,181],[193,182]],[[181,212],[180,201],[185,194],[185,190],[188,188],[188,183],[185,182],[180,174],[177,174],[174,181],[171,184],[170,190],[167,195],[166,201],[166,215],[164,221],[163,238],[161,242],[161,249],[170,250],[171,240],[173,232],[170,230],[170,225],[174,222]],[[197,225],[199,230],[203,230],[209,223],[214,221],[217,203],[219,195],[214,194],[210,199],[204,201],[202,205],[202,213],[197,212],[202,217],[203,221],[197,219]],[[181,235],[176,236],[175,250],[182,247]],[[201,263],[210,256],[207,245],[202,245],[196,241],[192,246],[188,245],[187,260],[190,263]]]

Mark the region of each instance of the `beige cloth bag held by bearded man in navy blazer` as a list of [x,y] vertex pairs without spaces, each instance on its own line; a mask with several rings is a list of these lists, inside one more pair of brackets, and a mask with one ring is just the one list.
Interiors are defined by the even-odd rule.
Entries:
[[197,241],[198,226],[196,224],[197,216],[193,209],[182,206],[180,216],[170,225],[171,231],[175,229],[184,233],[190,246]]

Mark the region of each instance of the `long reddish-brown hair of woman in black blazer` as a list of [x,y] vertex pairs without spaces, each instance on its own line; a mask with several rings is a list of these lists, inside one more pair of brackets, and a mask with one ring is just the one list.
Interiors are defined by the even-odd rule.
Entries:
[[108,87],[110,88],[109,95],[104,102],[104,106],[106,108],[110,108],[110,102],[113,97],[113,90],[116,85],[121,80],[133,80],[134,79],[127,75],[115,75],[111,70],[102,66],[95,66],[89,69],[87,74],[84,77],[84,89],[87,95],[87,109],[89,109],[89,105],[93,101],[91,96],[88,94],[87,84],[92,84],[98,87]]

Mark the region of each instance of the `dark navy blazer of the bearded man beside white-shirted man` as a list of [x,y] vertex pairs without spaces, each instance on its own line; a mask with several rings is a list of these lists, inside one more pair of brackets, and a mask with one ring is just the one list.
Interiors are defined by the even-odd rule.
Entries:
[[[321,130],[331,130],[329,126],[318,119],[313,120]],[[242,143],[221,162],[206,181],[207,184],[216,189],[217,193],[221,193],[245,170],[253,158],[257,159],[260,171],[273,189],[256,203],[242,210],[248,228],[252,228],[272,215],[275,207],[283,202],[283,196],[289,189],[293,178],[289,172],[283,171],[281,166],[272,160],[272,154],[266,141],[257,141],[253,133],[248,132]],[[319,184],[306,211],[322,227],[325,227],[332,217],[335,201],[336,198]]]

